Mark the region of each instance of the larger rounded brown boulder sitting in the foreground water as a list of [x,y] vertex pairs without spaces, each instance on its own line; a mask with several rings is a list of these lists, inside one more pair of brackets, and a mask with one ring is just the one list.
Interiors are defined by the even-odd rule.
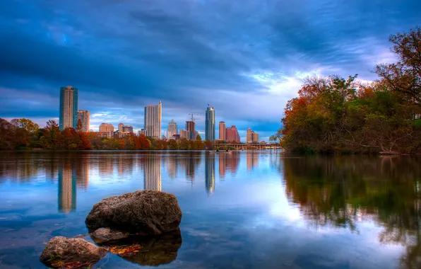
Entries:
[[86,217],[89,229],[109,227],[119,231],[159,235],[178,229],[182,210],[174,195],[158,190],[105,198]]

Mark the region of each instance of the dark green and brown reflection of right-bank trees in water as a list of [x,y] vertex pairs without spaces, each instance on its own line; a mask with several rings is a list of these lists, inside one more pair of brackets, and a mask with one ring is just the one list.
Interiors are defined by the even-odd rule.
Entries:
[[401,244],[405,268],[421,268],[420,156],[311,156],[281,159],[285,192],[314,227],[358,232],[362,220]]

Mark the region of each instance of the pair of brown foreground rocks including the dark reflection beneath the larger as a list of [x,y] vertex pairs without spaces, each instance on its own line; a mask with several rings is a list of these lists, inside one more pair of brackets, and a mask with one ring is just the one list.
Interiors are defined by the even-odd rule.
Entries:
[[177,258],[182,246],[177,198],[158,190],[105,198],[85,219],[92,244],[81,238],[56,236],[40,261],[52,268],[89,268],[108,252],[141,265],[157,266]]

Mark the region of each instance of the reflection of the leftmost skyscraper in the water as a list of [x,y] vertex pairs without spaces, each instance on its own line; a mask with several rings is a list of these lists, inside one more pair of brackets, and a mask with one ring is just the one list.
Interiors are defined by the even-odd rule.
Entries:
[[71,164],[59,164],[59,212],[76,210],[75,170]]

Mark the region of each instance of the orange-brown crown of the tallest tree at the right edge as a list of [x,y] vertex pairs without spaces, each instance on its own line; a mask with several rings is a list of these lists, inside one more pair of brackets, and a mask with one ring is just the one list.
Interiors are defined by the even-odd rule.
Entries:
[[391,35],[389,41],[398,62],[379,64],[376,73],[393,91],[405,94],[421,106],[421,28]]

